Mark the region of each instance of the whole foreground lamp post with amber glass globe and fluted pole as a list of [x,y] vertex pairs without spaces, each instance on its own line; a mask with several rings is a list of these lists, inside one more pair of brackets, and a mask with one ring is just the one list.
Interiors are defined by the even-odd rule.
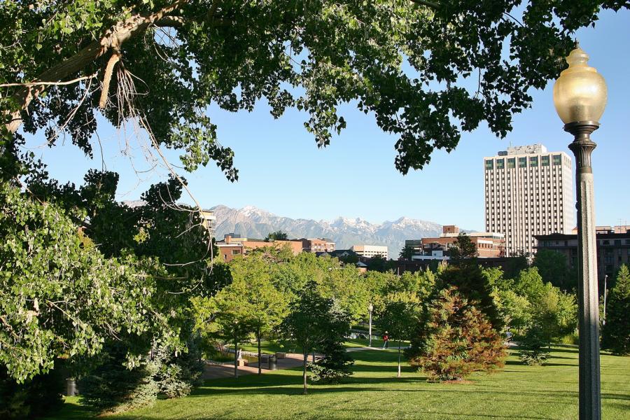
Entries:
[[599,298],[597,290],[597,250],[595,236],[595,203],[591,153],[596,144],[590,134],[598,129],[598,120],[606,105],[606,84],[589,56],[576,45],[554,84],[554,105],[573,134],[570,150],[577,167],[577,328],[580,335],[580,420],[601,420],[599,376]]

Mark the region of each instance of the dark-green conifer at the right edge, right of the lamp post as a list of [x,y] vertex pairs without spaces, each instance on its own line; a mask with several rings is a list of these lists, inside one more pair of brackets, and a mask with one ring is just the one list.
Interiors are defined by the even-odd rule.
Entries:
[[606,323],[601,331],[601,344],[612,353],[630,354],[630,270],[619,267],[615,287],[610,290],[606,307]]

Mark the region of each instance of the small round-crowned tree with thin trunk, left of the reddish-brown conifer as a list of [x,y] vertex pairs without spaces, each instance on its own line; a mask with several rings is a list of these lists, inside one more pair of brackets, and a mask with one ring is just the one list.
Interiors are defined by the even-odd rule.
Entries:
[[379,314],[381,330],[398,341],[398,374],[400,377],[400,342],[410,339],[418,325],[421,306],[415,293],[392,293],[384,298],[385,307]]

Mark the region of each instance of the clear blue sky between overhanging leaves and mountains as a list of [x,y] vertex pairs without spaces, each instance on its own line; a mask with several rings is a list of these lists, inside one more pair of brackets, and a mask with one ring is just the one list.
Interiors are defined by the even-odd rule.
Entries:
[[[629,23],[627,10],[606,12],[596,27],[578,33],[581,47],[591,56],[589,64],[608,84],[608,106],[601,128],[593,135],[598,144],[593,163],[598,225],[630,222],[626,166],[630,150]],[[221,144],[235,151],[239,181],[226,181],[214,164],[186,174],[186,178],[203,207],[253,205],[293,218],[344,216],[375,223],[407,216],[482,230],[484,156],[505,150],[510,142],[514,146],[542,143],[549,151],[571,155],[567,145],[572,139],[556,116],[552,85],[551,81],[545,90],[531,92],[532,108],[515,116],[514,130],[505,139],[497,139],[481,126],[464,133],[456,151],[436,151],[428,167],[407,176],[393,164],[395,137],[381,132],[371,116],[353,106],[341,108],[348,127],[324,149],[318,149],[304,130],[306,116],[295,110],[274,120],[265,104],[253,113],[211,108]],[[120,200],[137,199],[149,184],[164,176],[164,170],[136,173],[149,165],[131,135],[126,153],[121,153],[127,145],[123,133],[101,125],[99,135],[106,167],[121,176]],[[41,144],[40,136],[29,141],[49,165],[50,174],[62,181],[80,183],[87,169],[102,166],[97,145],[90,162],[71,144],[53,149],[37,147]],[[178,162],[176,156],[169,153],[172,162]]]

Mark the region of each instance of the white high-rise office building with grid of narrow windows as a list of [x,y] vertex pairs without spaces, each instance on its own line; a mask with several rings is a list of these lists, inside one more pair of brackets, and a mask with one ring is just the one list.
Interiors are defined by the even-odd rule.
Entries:
[[542,144],[484,158],[486,231],[505,235],[508,256],[535,251],[534,235],[570,234],[575,225],[571,158]]

